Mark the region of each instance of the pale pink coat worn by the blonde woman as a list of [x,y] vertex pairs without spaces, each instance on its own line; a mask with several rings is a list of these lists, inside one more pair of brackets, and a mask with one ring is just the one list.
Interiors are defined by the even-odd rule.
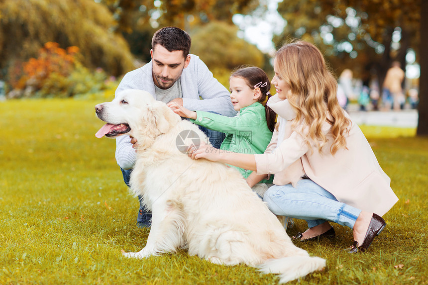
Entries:
[[[398,201],[390,187],[391,179],[381,169],[367,139],[355,123],[352,122],[349,134],[346,134],[346,149],[339,149],[333,156],[329,151],[332,136],[328,123],[323,127],[328,142],[320,153],[315,144],[309,148],[301,135],[291,131],[295,114],[287,100],[275,95],[269,99],[268,105],[286,119],[283,120],[287,121],[286,135],[276,150],[272,151],[268,146],[268,152],[255,155],[258,174],[275,174],[274,183],[280,181],[282,183],[277,185],[284,185],[299,180],[301,161],[305,174],[340,202],[382,216]],[[345,115],[348,116],[346,112]],[[271,143],[275,144],[275,139],[278,136],[274,135]],[[282,179],[287,170],[294,174]]]

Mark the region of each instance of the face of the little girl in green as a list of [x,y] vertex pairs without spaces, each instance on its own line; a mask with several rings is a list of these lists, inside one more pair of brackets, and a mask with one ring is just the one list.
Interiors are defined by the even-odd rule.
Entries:
[[242,77],[231,77],[229,80],[230,101],[235,111],[257,102],[260,94],[251,89]]

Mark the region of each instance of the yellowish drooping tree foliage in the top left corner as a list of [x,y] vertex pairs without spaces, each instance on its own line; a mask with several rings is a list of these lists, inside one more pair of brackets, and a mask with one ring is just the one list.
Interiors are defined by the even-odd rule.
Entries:
[[50,41],[79,47],[87,67],[123,74],[133,68],[132,55],[123,37],[110,30],[114,25],[106,6],[94,0],[1,0],[0,76]]

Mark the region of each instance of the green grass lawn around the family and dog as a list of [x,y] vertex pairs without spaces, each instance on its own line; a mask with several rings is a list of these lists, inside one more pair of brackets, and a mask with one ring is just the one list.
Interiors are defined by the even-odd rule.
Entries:
[[[121,249],[144,247],[148,231],[135,226],[138,201],[122,181],[115,141],[95,137],[96,103],[0,102],[0,284],[277,284],[275,275],[185,251],[123,258]],[[333,241],[298,243],[327,266],[290,284],[428,284],[428,139],[414,129],[362,129],[400,200],[366,254],[346,252],[352,232],[337,224]],[[305,229],[297,221],[288,233]]]

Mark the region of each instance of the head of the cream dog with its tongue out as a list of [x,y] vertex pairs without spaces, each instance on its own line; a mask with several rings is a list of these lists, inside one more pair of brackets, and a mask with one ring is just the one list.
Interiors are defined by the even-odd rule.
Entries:
[[144,148],[181,121],[165,103],[155,100],[148,92],[134,89],[118,93],[111,102],[97,104],[95,111],[107,123],[97,132],[97,137],[129,134]]

